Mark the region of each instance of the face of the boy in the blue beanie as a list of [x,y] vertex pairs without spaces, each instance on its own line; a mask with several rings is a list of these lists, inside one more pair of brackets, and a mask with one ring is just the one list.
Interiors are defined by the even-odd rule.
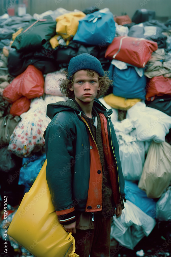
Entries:
[[97,96],[97,91],[100,90],[98,82],[98,74],[94,72],[94,76],[87,75],[86,70],[79,70],[74,74],[74,83],[70,87],[74,91],[75,100],[89,103]]

